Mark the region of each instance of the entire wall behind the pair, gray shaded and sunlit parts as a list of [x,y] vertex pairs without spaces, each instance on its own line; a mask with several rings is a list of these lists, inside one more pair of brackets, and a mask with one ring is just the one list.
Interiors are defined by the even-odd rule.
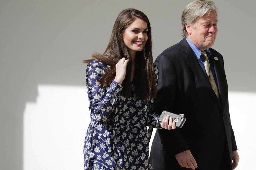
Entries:
[[[182,39],[181,12],[189,2],[1,0],[0,169],[82,168],[89,120],[82,60],[105,50],[117,15],[130,7],[148,16],[156,58]],[[242,126],[238,113],[245,108],[248,121],[255,119],[256,1],[215,3],[219,31],[213,48],[224,57],[235,94],[230,114],[245,168],[255,158],[255,128],[253,122]]]

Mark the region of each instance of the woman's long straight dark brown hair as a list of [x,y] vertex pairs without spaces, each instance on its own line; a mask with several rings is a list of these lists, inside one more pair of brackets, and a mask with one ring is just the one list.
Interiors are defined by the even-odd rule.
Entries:
[[94,52],[92,58],[84,60],[84,63],[92,61],[100,61],[110,66],[110,70],[99,80],[104,86],[110,86],[115,78],[115,64],[125,57],[129,59],[127,64],[126,76],[122,82],[123,90],[121,95],[131,97],[131,57],[128,52],[128,47],[122,40],[122,35],[127,27],[133,23],[135,19],[142,19],[147,23],[147,42],[142,51],[136,52],[135,70],[134,70],[134,85],[135,92],[139,99],[145,101],[153,98],[156,95],[156,81],[154,75],[154,65],[152,57],[152,40],[151,27],[147,16],[136,9],[129,8],[123,10],[115,20],[109,45],[107,46],[103,55]]

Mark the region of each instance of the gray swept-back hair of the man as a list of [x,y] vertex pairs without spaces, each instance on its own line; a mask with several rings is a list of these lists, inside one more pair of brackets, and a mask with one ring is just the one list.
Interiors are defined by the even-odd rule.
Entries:
[[218,10],[213,1],[199,0],[187,5],[181,16],[182,36],[185,37],[187,35],[186,23],[193,26],[199,18],[205,14],[209,15],[211,11],[215,11],[216,16],[218,17]]

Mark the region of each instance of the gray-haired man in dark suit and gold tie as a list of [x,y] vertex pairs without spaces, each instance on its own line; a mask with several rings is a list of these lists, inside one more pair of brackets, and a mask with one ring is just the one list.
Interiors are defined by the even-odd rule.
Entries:
[[223,57],[211,48],[217,22],[214,2],[191,2],[182,13],[184,39],[155,60],[155,113],[184,113],[187,120],[181,129],[157,130],[150,153],[154,170],[231,170],[238,165]]

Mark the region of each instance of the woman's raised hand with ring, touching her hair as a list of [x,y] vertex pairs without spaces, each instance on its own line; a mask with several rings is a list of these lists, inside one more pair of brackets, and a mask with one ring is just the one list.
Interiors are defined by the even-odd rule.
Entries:
[[114,81],[118,82],[119,84],[122,84],[123,80],[125,79],[126,66],[128,62],[129,60],[125,60],[125,58],[122,58],[115,65],[116,76]]

